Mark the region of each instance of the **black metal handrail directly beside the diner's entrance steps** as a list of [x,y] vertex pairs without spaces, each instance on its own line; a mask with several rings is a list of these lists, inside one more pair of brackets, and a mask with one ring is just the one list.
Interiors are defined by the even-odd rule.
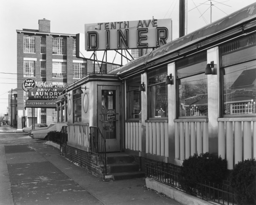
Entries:
[[100,156],[104,165],[105,175],[107,175],[106,139],[96,126],[90,127],[90,151]]

